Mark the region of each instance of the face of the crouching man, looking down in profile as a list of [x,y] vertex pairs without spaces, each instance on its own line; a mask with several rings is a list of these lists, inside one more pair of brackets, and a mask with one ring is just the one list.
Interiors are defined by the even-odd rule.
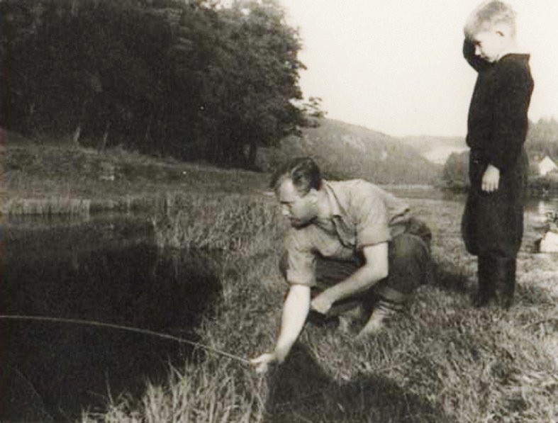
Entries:
[[311,190],[306,196],[301,196],[291,179],[285,179],[279,189],[277,198],[281,203],[281,213],[289,219],[294,227],[303,227],[316,218],[316,190]]

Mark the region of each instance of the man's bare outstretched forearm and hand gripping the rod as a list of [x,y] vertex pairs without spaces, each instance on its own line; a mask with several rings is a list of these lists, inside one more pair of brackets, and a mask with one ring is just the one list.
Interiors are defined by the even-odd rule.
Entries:
[[281,316],[281,329],[272,352],[250,360],[258,373],[265,373],[270,363],[282,363],[301,333],[310,310],[310,287],[292,285],[286,296]]

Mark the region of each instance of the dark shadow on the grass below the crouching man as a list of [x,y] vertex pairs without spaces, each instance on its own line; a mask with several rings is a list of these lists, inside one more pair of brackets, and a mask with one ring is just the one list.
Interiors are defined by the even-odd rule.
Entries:
[[454,422],[381,375],[333,380],[297,344],[269,379],[266,422]]

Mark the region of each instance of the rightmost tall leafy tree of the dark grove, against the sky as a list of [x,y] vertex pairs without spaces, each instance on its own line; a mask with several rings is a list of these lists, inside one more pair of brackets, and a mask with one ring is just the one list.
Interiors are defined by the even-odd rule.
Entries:
[[301,98],[301,45],[275,1],[236,1],[218,18],[199,118],[213,159],[253,166],[258,146],[277,142],[301,122],[292,103]]

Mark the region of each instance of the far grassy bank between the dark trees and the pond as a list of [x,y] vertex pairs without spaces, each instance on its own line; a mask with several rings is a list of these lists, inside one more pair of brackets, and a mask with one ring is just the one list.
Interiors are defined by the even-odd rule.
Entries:
[[0,143],[0,212],[84,215],[160,210],[191,193],[246,193],[266,188],[250,171],[218,169],[120,148],[99,153],[60,140],[4,133]]

